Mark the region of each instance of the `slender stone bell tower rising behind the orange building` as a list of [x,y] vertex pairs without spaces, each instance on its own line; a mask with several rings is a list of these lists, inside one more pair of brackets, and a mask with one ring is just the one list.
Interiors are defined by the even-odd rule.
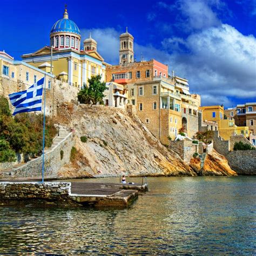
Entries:
[[133,52],[133,36],[128,32],[126,26],[126,32],[122,33],[119,37],[119,64],[132,63],[134,62]]

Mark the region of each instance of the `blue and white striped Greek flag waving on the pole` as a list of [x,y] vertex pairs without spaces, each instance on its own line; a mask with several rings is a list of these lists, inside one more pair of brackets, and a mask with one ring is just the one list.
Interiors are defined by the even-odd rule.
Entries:
[[9,94],[11,104],[15,106],[12,116],[22,112],[41,111],[43,86],[44,77],[25,91]]

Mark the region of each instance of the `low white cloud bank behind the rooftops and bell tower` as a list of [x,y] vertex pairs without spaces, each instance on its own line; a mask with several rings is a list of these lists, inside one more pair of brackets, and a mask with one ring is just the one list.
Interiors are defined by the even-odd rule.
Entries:
[[[90,31],[105,61],[118,64],[120,33],[113,28]],[[83,39],[88,37],[89,30],[82,30],[82,35]],[[203,105],[235,105],[230,97],[255,100],[254,36],[242,35],[232,26],[222,24],[192,33],[186,39],[166,38],[162,44],[164,50],[134,43],[137,61],[143,53],[144,59],[168,64],[169,73],[174,69],[178,76],[189,80],[190,90],[201,95]]]

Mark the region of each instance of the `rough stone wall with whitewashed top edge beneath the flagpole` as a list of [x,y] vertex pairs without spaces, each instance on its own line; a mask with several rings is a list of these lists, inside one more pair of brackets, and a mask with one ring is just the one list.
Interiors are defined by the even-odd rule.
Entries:
[[27,200],[27,199],[44,199],[44,200],[64,200],[71,193],[71,183],[64,182],[1,182],[0,183],[0,201],[8,200]]

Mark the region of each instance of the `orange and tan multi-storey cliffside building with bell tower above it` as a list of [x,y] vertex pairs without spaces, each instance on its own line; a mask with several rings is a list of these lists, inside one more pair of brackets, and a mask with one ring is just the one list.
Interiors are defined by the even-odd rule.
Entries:
[[168,144],[184,127],[188,136],[198,131],[200,96],[190,95],[188,80],[169,76],[168,66],[155,59],[136,62],[133,36],[127,31],[119,37],[119,64],[106,66],[106,81],[124,85],[129,104],[147,128]]

